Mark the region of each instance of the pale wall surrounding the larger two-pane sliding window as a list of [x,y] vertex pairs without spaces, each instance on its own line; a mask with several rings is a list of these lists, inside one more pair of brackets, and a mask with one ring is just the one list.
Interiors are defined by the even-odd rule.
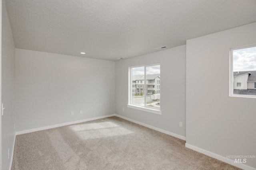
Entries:
[[[162,115],[127,107],[128,67],[154,63],[160,63]],[[116,114],[185,137],[185,111],[186,45],[116,62]]]

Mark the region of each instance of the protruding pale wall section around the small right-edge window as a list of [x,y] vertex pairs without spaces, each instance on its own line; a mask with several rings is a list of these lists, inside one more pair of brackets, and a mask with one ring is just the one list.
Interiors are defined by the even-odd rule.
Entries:
[[[254,43],[256,23],[187,41],[186,144],[223,157],[256,154],[256,98],[229,96],[229,50]],[[245,164],[256,168],[256,159]]]

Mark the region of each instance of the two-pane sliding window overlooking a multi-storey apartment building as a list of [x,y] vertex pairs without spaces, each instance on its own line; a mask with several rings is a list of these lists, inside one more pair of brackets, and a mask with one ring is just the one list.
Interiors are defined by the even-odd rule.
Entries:
[[130,67],[129,74],[128,107],[160,114],[160,64]]

